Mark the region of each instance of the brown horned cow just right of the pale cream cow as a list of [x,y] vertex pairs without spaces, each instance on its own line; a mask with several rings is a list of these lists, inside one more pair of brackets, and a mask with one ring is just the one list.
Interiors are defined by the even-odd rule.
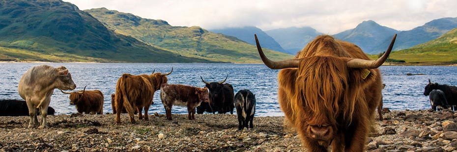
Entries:
[[[87,87],[87,86],[86,86]],[[103,114],[103,93],[100,90],[87,90],[84,87],[83,91],[74,91],[74,92],[64,92],[64,94],[69,94],[70,104],[76,105],[76,110],[78,113],[86,114]]]

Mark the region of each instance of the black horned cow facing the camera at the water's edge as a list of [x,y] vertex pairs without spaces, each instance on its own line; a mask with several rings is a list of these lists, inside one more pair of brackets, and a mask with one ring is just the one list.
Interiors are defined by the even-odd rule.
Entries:
[[[227,76],[228,77],[228,76]],[[227,80],[227,77],[224,81],[221,82],[206,82],[203,80],[203,77],[200,76],[201,81],[206,84],[206,87],[209,90],[209,99],[211,100],[209,106],[213,113],[216,111],[219,114],[225,114],[230,112],[233,114],[233,97],[235,96],[233,93],[233,87],[228,84],[224,83]],[[197,107],[199,109],[199,107]],[[200,111],[208,111],[207,107],[200,107]]]

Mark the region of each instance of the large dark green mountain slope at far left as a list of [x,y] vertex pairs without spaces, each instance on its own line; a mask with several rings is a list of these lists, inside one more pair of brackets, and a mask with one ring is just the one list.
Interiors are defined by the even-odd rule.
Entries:
[[96,62],[209,62],[114,33],[61,0],[1,0],[0,59]]

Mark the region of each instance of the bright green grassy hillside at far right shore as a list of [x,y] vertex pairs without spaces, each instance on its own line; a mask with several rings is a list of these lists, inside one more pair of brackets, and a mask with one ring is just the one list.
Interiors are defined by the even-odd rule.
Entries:
[[410,63],[457,63],[457,28],[437,39],[409,49],[392,52],[390,58]]

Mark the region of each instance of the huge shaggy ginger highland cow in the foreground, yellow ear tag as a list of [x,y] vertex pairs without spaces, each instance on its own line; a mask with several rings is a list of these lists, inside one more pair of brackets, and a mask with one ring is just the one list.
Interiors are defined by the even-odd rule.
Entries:
[[381,101],[381,74],[395,42],[375,61],[356,45],[317,36],[293,59],[263,63],[278,74],[278,100],[286,120],[310,152],[363,152],[372,116]]

